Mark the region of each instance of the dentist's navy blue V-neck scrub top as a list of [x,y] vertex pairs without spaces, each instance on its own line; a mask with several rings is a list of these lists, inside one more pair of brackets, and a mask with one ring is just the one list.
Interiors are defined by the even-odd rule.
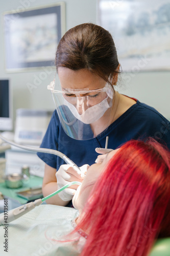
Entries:
[[[55,110],[40,147],[58,150],[80,167],[83,164],[94,163],[99,155],[95,152],[95,148],[105,147],[106,136],[109,136],[108,148],[113,150],[130,139],[144,140],[147,137],[155,138],[170,149],[169,121],[154,108],[138,100],[102,135],[90,140],[75,140],[67,136]],[[60,157],[52,154],[37,153],[37,155],[57,170],[60,165],[65,164]]]

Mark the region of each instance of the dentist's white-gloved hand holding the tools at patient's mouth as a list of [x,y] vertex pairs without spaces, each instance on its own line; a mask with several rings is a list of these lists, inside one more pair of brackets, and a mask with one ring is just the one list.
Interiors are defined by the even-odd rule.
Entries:
[[[58,172],[56,173],[58,189],[68,184],[71,181],[82,182],[85,174],[87,172],[89,165],[84,164],[80,167],[81,171],[77,170],[74,166],[70,164],[63,164],[60,166]],[[78,185],[72,185],[72,188],[65,188],[58,195],[63,201],[70,201],[75,195]]]

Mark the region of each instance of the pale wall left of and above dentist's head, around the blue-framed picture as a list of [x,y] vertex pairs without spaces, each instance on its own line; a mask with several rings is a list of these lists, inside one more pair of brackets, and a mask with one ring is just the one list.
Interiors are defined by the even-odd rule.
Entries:
[[[19,6],[28,5],[29,8],[38,7],[48,4],[53,4],[61,1],[55,0],[1,0],[0,12],[1,16],[5,11],[17,10]],[[66,30],[70,29],[81,23],[96,21],[96,3],[95,0],[65,0],[66,8]],[[23,7],[24,8],[24,7]],[[55,53],[54,53],[55,59]],[[28,83],[37,84],[35,77],[40,77],[44,72],[43,69],[34,72],[17,72],[7,73],[5,71],[5,59],[4,59],[4,38],[3,38],[3,20],[1,17],[0,24],[0,79],[9,78],[13,88],[13,112],[14,118],[16,109],[29,108],[29,109],[47,109],[54,110],[55,106],[52,100],[50,91],[47,90],[47,84],[54,78],[54,74],[51,74],[46,79],[42,80],[37,88],[32,90],[32,93],[28,89]]]

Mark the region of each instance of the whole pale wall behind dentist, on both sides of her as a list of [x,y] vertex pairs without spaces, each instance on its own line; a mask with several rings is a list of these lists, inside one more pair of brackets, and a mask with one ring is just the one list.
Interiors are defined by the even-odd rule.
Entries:
[[[60,1],[55,0],[5,0],[1,1],[1,16],[5,11],[16,10],[18,6],[37,7]],[[65,0],[66,6],[66,30],[81,23],[96,23],[96,0]],[[18,108],[47,109],[53,110],[54,103],[47,91],[47,84],[53,80],[51,74],[42,80],[39,86],[32,90],[28,89],[28,83],[35,84],[35,77],[41,77],[44,70],[6,73],[4,59],[3,23],[0,24],[0,79],[9,78],[13,88],[13,110]],[[55,57],[55,56],[54,56]],[[128,78],[127,78],[128,76]],[[135,97],[141,102],[154,106],[166,118],[170,118],[170,72],[141,72],[127,74],[122,79],[120,92]]]

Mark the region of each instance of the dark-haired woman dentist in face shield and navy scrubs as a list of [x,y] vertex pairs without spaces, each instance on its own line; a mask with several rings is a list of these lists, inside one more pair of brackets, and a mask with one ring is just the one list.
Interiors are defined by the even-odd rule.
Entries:
[[[56,67],[58,76],[48,86],[56,111],[41,147],[61,151],[78,166],[94,163],[97,153],[103,153],[99,148],[105,147],[106,136],[113,150],[130,139],[149,136],[170,148],[169,121],[114,90],[120,64],[113,38],[104,28],[86,23],[68,30],[57,48]],[[69,181],[84,179],[86,170],[64,165],[56,156],[38,156],[45,162],[44,196]],[[63,190],[47,203],[67,205],[76,188]]]

